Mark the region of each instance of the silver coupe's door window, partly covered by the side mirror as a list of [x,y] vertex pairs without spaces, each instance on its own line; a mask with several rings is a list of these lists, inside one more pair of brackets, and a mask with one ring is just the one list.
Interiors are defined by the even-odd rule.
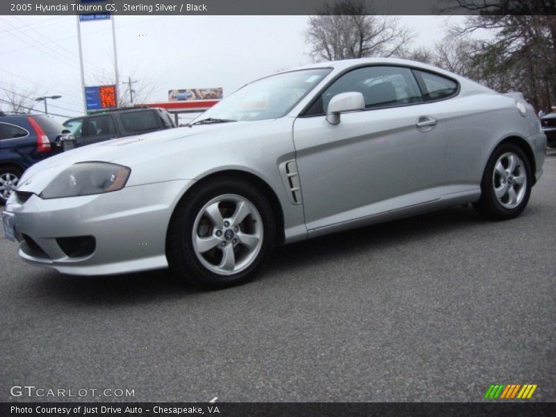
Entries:
[[306,114],[325,113],[332,97],[349,91],[361,92],[366,108],[402,106],[423,101],[418,83],[409,68],[363,67],[334,81]]

